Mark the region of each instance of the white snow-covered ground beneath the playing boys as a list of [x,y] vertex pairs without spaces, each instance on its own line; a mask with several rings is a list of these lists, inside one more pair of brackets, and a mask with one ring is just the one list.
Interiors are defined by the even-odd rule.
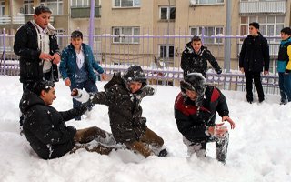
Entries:
[[[291,181],[291,104],[279,106],[279,96],[266,96],[263,104],[246,103],[243,92],[223,91],[236,128],[230,131],[226,166],[216,162],[214,143],[207,146],[209,157],[186,157],[186,146],[176,128],[174,100],[178,87],[157,86],[142,106],[147,125],[165,139],[168,157],[144,159],[128,150],[109,156],[85,149],[65,157],[43,160],[37,157],[25,136],[19,135],[18,103],[22,85],[17,76],[0,76],[0,181],[88,181],[88,182],[286,182]],[[98,82],[103,90],[105,82]],[[70,91],[63,81],[56,83],[55,108],[72,107]],[[256,100],[256,97],[255,97]],[[220,117],[216,116],[216,121]],[[91,118],[69,121],[77,128],[99,126],[110,131],[106,106],[95,106]]]

